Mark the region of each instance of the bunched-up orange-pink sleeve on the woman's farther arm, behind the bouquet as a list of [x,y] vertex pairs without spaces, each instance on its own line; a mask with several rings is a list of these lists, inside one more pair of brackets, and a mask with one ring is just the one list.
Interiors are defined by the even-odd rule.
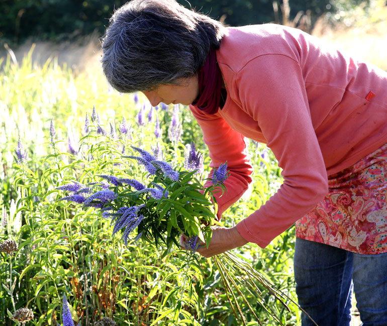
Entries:
[[[222,196],[220,193],[214,194],[220,220],[222,213],[247,190],[252,181],[253,169],[246,152],[244,137],[240,133],[231,129],[226,121],[217,115],[208,115],[192,105],[189,108],[203,131],[204,142],[209,149],[212,168],[209,178],[212,178],[214,167],[226,161],[230,171],[225,181],[227,191]],[[210,186],[210,182],[211,180],[208,180],[205,186]]]

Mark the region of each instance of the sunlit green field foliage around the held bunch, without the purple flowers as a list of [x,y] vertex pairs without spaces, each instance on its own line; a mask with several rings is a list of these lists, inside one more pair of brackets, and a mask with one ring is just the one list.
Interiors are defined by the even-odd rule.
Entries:
[[[156,139],[154,116],[151,122],[145,119],[145,125],[138,122],[137,114],[144,104],[145,113],[149,113],[143,100],[140,96],[136,104],[133,95],[113,92],[104,78],[73,76],[55,61],[38,67],[27,56],[20,66],[9,59],[4,65],[0,74],[0,155],[4,162],[0,166],[0,211],[7,225],[0,224],[0,241],[15,240],[19,250],[14,257],[0,254],[0,283],[4,284],[0,288],[0,315],[28,307],[35,314],[30,324],[56,325],[62,322],[61,299],[66,294],[75,323],[80,321],[82,325],[109,316],[119,325],[130,326],[240,326],[241,321],[230,313],[233,309],[242,312],[248,325],[257,324],[255,315],[263,325],[297,325],[297,305],[284,299],[287,309],[260,284],[245,286],[246,274],[235,270],[227,257],[215,263],[162,242],[158,248],[141,241],[129,241],[125,246],[120,237],[111,236],[111,222],[103,219],[98,210],[84,210],[79,204],[58,200],[66,194],[56,187],[73,180],[88,183],[98,180],[101,174],[146,180],[141,168],[121,158],[123,146],[126,154],[132,154],[130,145],[151,151],[158,141],[163,159],[173,167],[181,167],[185,144],[194,141],[208,165],[203,136],[188,109],[180,107],[181,141],[171,142],[167,136],[171,108],[153,110],[162,129],[162,137]],[[85,114],[91,115],[93,105],[100,123],[92,123],[85,133]],[[109,123],[117,126],[122,116],[131,126],[128,135],[97,133],[98,127],[107,129]],[[51,118],[56,128],[53,142],[49,136]],[[19,135],[28,152],[22,164],[16,163],[13,152]],[[78,153],[68,149],[69,139]],[[224,214],[222,222],[226,226],[256,210],[281,182],[272,154],[254,142],[248,142],[248,148],[255,155],[251,158],[255,181],[251,193]],[[184,173],[181,169],[182,178]],[[171,194],[176,192],[173,200],[186,203],[189,197],[208,203],[206,197],[192,193],[199,187],[195,183],[184,184],[184,195],[177,185],[169,186]],[[293,251],[291,229],[265,250],[251,245],[234,250],[233,255],[264,275],[264,282],[267,279],[294,299]],[[221,271],[227,273],[231,283],[222,281]],[[260,297],[252,290],[256,287]],[[232,294],[227,288],[239,289],[234,291],[236,300],[229,300]],[[266,309],[280,316],[280,322]],[[0,325],[12,324],[7,317],[0,319]]]

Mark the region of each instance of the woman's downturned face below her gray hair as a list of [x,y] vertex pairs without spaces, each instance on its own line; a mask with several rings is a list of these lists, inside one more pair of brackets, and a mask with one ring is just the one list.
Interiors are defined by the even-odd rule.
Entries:
[[143,93],[152,106],[160,102],[189,105],[199,96],[198,76],[182,79],[179,85],[160,85],[152,90],[144,90]]

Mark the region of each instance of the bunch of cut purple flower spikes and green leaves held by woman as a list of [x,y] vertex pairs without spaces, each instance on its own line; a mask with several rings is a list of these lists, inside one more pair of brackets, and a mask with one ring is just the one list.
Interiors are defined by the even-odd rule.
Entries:
[[[227,164],[214,173],[213,186],[204,188],[195,177],[202,160],[195,145],[185,157],[185,167],[191,171],[175,171],[167,162],[138,147],[132,149],[140,156],[123,156],[144,167],[144,180],[98,175],[100,182],[81,184],[73,182],[57,187],[71,194],[61,198],[80,203],[83,207],[96,207],[104,218],[114,223],[112,235],[122,231],[128,245],[129,235],[137,228],[135,241],[142,238],[158,245],[163,242],[169,249],[184,234],[191,249],[199,238],[209,244],[211,225],[215,222],[212,209],[216,199],[214,189],[222,187],[228,176]],[[88,195],[88,196],[86,196]],[[214,202],[214,203],[213,203]]]

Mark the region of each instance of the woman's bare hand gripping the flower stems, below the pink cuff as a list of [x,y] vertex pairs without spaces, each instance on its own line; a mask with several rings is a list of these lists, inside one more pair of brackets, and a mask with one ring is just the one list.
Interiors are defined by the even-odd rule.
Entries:
[[[236,227],[233,228],[222,228],[212,227],[212,237],[210,246],[207,248],[206,245],[200,241],[199,249],[196,251],[204,257],[212,257],[225,251],[244,246],[248,243],[238,232]],[[185,237],[180,237],[180,246],[185,248]]]

